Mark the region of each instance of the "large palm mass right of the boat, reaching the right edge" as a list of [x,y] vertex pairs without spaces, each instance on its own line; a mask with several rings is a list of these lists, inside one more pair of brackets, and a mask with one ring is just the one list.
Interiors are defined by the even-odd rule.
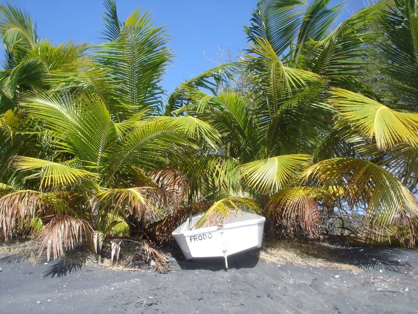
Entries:
[[[278,222],[315,236],[321,213],[348,208],[362,216],[353,230],[357,241],[414,246],[417,200],[396,175],[416,173],[411,155],[417,119],[385,106],[361,83],[368,64],[358,58],[375,35],[370,25],[386,23],[390,29],[387,20],[397,19],[411,26],[416,10],[410,1],[381,1],[329,32],[340,5],[328,8],[328,3],[260,1],[246,28],[251,92],[209,95],[185,85],[183,106],[173,113],[188,112],[218,129],[221,149],[195,167],[213,173],[222,189],[252,195],[269,218],[270,236]],[[405,53],[394,49],[401,46],[400,34],[395,36],[384,52],[402,55],[396,56],[402,66],[416,64],[411,53],[416,47],[409,44]],[[395,72],[387,70],[393,80]],[[407,90],[414,99],[416,93]],[[194,158],[187,167],[193,163]]]

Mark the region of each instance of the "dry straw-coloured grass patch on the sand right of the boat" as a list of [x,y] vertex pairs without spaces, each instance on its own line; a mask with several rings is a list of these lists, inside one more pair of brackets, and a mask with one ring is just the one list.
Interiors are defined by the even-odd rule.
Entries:
[[344,262],[340,253],[326,243],[299,241],[266,241],[260,257],[268,263],[296,264],[313,266],[322,269],[334,267],[361,272],[355,265]]

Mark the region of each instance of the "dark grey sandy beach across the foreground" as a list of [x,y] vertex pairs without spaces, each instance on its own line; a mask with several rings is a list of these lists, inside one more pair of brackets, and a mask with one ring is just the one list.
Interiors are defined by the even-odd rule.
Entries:
[[1,314],[418,313],[418,252],[341,249],[359,266],[268,263],[260,253],[179,260],[168,274],[0,258]]

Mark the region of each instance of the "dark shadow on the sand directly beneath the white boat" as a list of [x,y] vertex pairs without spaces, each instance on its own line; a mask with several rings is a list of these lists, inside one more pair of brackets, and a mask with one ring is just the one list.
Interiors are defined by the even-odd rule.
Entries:
[[[228,257],[228,269],[254,268],[260,260],[260,249],[237,253]],[[183,270],[206,269],[219,271],[225,268],[224,257],[200,257],[186,260],[183,255],[177,258]]]

